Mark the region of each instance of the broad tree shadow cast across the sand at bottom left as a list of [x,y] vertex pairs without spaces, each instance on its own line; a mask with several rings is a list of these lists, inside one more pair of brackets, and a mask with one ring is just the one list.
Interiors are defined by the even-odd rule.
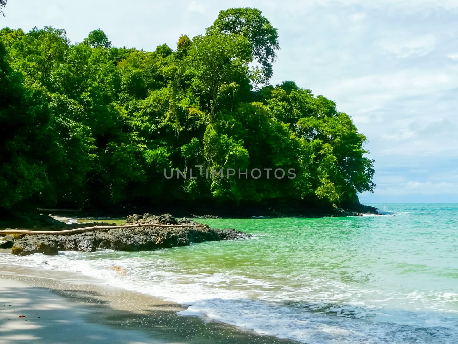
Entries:
[[[0,289],[0,343],[293,343],[206,318],[178,316],[179,306],[147,303],[148,298],[141,294],[143,303],[127,311],[116,309],[111,305],[115,301],[104,300],[97,291],[23,286]],[[126,301],[136,302],[120,303]],[[25,317],[18,317],[22,315]]]

